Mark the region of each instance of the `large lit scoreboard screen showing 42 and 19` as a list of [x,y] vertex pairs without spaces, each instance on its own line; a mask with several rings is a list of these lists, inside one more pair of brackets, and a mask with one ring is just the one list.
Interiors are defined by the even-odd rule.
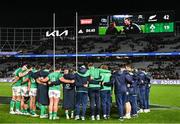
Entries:
[[174,33],[174,11],[80,16],[79,35]]

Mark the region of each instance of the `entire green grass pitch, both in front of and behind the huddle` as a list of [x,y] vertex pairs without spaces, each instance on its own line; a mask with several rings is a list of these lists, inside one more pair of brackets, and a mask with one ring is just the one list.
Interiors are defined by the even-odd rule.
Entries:
[[[11,96],[11,87],[8,83],[0,83],[0,96]],[[114,98],[113,98],[114,99]],[[163,106],[180,107],[179,85],[153,85],[151,87],[150,103]],[[60,120],[32,118],[23,115],[10,115],[9,105],[0,105],[0,123],[84,123],[83,121],[66,120],[64,110],[59,110]],[[89,109],[87,115],[90,115]],[[112,109],[110,120],[91,121],[87,116],[86,123],[120,123],[117,116],[117,108]],[[155,109],[150,113],[142,113],[138,118],[125,120],[122,123],[180,123],[180,109]]]

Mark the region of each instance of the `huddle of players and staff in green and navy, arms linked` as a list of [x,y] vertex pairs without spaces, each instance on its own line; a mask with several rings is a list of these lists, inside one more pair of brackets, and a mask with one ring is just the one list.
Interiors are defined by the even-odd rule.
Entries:
[[66,119],[85,120],[88,103],[91,120],[109,119],[114,92],[119,120],[138,117],[138,113],[150,112],[150,78],[144,69],[134,69],[130,64],[113,71],[107,65],[97,68],[93,63],[81,65],[77,71],[60,65],[52,71],[49,64],[24,64],[14,72],[10,114],[59,119],[63,96]]

